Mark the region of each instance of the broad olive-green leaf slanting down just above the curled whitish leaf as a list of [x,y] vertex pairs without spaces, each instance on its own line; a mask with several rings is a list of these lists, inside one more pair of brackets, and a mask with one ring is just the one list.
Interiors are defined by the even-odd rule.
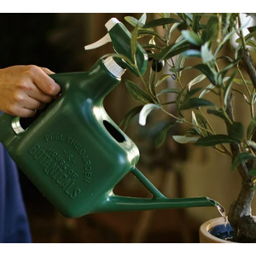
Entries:
[[131,96],[137,101],[142,104],[148,104],[153,103],[154,101],[152,98],[140,87],[137,86],[137,84],[134,84],[130,80],[125,80],[125,86],[131,93]]

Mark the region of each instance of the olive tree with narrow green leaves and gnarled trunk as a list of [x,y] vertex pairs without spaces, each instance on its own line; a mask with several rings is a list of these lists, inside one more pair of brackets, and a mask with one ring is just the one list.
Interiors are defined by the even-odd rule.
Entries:
[[[246,14],[256,19],[255,14]],[[241,14],[159,14],[152,20],[125,17],[134,29],[131,51],[136,42],[145,40],[148,72],[139,81],[126,80],[125,85],[139,106],[123,120],[124,128],[139,114],[145,125],[148,115],[158,110],[170,122],[160,131],[156,147],[166,140],[175,125],[186,131],[173,136],[177,143],[194,143],[225,154],[232,170],[241,177],[241,192],[230,209],[228,218],[234,230],[232,241],[256,241],[256,222],[251,214],[256,177],[256,72],[252,54],[256,53],[256,26],[241,21]],[[247,30],[247,34],[244,30]],[[235,38],[235,39],[234,39]],[[136,67],[136,60],[131,63]],[[186,75],[193,71],[186,83]],[[170,88],[167,79],[176,87]],[[171,100],[166,102],[166,97]],[[250,119],[242,123],[234,113],[234,98],[246,102]],[[164,99],[164,100],[163,100]],[[172,107],[172,108],[170,108]],[[175,110],[173,110],[175,107]],[[210,118],[218,119],[218,132]]]

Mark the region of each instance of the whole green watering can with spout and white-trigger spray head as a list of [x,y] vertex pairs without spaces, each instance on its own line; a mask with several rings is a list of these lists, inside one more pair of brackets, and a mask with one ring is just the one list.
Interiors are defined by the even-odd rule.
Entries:
[[[114,50],[132,61],[131,33],[115,18],[106,27],[108,35],[85,49],[112,41]],[[136,58],[143,74],[148,55],[139,44]],[[136,144],[103,108],[105,96],[120,83],[125,68],[138,75],[124,59],[108,57],[89,72],[51,75],[60,84],[61,95],[26,128],[24,119],[3,113],[0,141],[32,183],[68,218],[94,212],[217,206],[207,197],[168,199],[137,169]],[[113,194],[128,172],[152,198]]]

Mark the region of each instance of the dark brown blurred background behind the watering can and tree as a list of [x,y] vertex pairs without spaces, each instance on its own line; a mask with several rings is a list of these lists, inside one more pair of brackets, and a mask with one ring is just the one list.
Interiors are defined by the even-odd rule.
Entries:
[[[104,25],[112,17],[131,30],[124,20],[128,15],[138,19],[142,14],[0,14],[0,68],[35,64],[55,73],[87,71],[113,49],[108,44],[85,52],[84,45],[102,38],[107,33]],[[131,73],[126,72],[121,84],[104,101],[116,124],[137,106],[124,84],[130,77]],[[172,80],[168,83],[173,86]],[[242,108],[236,111],[241,119],[247,118]],[[166,123],[166,116],[150,116],[148,125],[139,126],[134,119],[125,131],[140,149],[138,169],[167,197],[209,196],[228,209],[240,189],[237,173],[230,172],[230,160],[211,148],[174,143],[172,134],[183,134],[178,126],[169,132],[164,145],[155,148],[154,138]],[[158,125],[152,125],[151,119],[157,119]],[[198,242],[200,225],[220,217],[215,207],[205,207],[64,218],[22,172],[20,183],[34,242]],[[148,191],[130,174],[114,192],[148,197]]]

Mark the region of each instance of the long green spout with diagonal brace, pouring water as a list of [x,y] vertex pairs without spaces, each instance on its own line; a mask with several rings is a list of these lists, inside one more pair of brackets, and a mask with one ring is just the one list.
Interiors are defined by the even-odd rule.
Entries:
[[135,166],[131,172],[137,179],[143,183],[143,186],[153,195],[153,198],[137,198],[114,195],[113,192],[108,195],[96,212],[128,212],[128,211],[145,211],[169,208],[183,207],[216,207],[218,202],[208,197],[194,198],[167,198],[154,187],[147,177],[143,175]]

